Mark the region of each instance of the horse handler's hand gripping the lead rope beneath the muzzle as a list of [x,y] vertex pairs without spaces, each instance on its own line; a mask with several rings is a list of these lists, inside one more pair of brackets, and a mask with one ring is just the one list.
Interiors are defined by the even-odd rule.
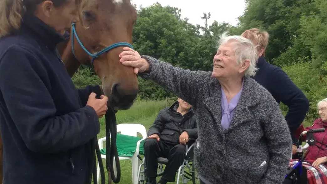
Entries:
[[86,105],[91,106],[94,108],[96,115],[98,115],[98,118],[102,118],[106,111],[108,110],[107,101],[108,97],[101,95],[101,99],[96,99],[96,94],[91,93],[89,96],[89,99],[86,103]]

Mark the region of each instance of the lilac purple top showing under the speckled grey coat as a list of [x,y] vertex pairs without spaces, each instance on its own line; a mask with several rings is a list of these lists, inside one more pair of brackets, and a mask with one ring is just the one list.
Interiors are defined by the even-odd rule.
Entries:
[[231,121],[236,110],[235,107],[237,106],[238,100],[240,100],[242,90],[243,90],[243,82],[242,82],[241,90],[228,103],[225,92],[223,88],[221,88],[221,112],[222,112],[221,126],[223,130],[226,130],[231,125]]

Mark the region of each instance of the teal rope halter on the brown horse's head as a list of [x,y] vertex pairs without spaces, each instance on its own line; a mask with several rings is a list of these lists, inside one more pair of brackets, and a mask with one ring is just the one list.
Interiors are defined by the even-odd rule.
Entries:
[[83,45],[83,43],[80,41],[80,39],[78,38],[78,35],[77,35],[77,32],[76,32],[76,28],[75,28],[75,23],[72,23],[72,51],[73,51],[73,54],[76,58],[76,55],[75,55],[75,51],[74,51],[74,36],[76,37],[77,39],[77,42],[79,43],[79,45],[83,48],[83,50],[89,55],[92,57],[92,60],[91,60],[91,63],[93,64],[95,58],[98,58],[101,54],[103,53],[106,53],[116,47],[119,47],[119,46],[128,46],[130,48],[133,49],[133,46],[127,42],[118,42],[118,43],[115,43],[115,44],[112,44],[111,46],[107,46],[106,48],[102,49],[101,51],[99,52],[95,52],[95,53],[91,53],[90,51],[88,51],[85,46]]

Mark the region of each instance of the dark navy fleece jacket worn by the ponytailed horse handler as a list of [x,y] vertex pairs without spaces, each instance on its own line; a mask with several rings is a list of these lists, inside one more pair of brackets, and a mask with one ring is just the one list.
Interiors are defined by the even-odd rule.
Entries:
[[0,127],[5,184],[84,184],[90,140],[99,133],[85,106],[99,86],[77,91],[56,52],[63,38],[34,16],[0,39]]

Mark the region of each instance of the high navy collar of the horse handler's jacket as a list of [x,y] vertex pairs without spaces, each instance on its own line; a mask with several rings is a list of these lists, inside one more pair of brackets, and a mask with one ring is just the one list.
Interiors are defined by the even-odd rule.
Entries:
[[26,31],[31,32],[37,42],[43,43],[50,49],[55,49],[58,43],[65,40],[64,36],[57,33],[54,28],[51,28],[34,15],[24,15],[20,30],[23,33]]

